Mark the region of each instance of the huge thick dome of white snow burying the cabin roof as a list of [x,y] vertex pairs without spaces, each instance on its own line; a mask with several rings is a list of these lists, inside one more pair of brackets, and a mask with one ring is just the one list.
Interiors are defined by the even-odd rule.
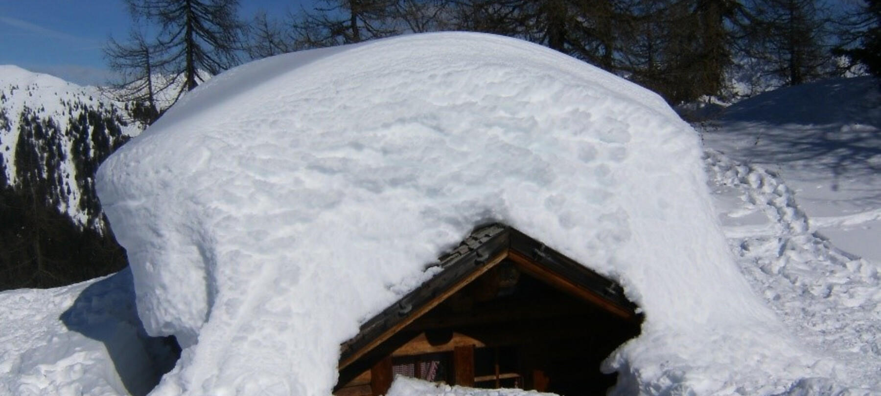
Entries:
[[184,348],[153,394],[329,394],[339,344],[488,222],[640,305],[642,333],[605,363],[618,394],[833,378],[739,272],[700,155],[634,84],[437,33],[230,70],[107,160],[99,194],[144,326]]

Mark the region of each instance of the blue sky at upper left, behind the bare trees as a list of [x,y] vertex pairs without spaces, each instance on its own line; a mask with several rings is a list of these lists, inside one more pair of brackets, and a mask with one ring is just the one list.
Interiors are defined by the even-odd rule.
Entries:
[[[302,3],[312,4],[305,0]],[[259,10],[285,16],[298,0],[240,0],[249,21]],[[124,40],[131,18],[122,0],[0,0],[0,64],[48,73],[77,84],[107,79],[102,48]]]

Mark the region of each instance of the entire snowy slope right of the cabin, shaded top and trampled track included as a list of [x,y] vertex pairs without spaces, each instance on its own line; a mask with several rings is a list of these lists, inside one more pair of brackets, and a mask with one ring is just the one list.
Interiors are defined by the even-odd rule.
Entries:
[[877,80],[861,77],[744,100],[703,135],[716,208],[753,288],[842,378],[875,393],[879,127]]

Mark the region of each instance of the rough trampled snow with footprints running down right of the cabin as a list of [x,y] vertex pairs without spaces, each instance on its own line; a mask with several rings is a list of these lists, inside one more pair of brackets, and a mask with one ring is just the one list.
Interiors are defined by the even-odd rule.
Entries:
[[[850,392],[878,392],[881,374],[881,271],[876,262],[840,251],[808,226],[779,175],[707,150],[714,185],[735,187],[744,203],[773,224],[733,233],[729,245],[744,275],[789,331],[826,357]],[[724,216],[722,216],[724,218]],[[723,220],[723,222],[725,222]]]

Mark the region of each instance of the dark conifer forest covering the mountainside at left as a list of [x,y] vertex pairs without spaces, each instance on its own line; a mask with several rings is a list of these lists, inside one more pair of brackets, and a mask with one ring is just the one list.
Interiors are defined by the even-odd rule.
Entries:
[[[19,114],[16,183],[0,186],[0,290],[81,282],[126,264],[94,190],[98,165],[125,141],[119,120],[112,110],[68,106],[78,114],[65,129],[27,106]],[[71,136],[68,151],[65,139]],[[70,172],[63,164],[69,155],[76,169],[77,202],[71,202],[63,177]],[[3,165],[0,171],[5,173]],[[71,204],[88,217],[87,224],[75,224],[63,213]]]

